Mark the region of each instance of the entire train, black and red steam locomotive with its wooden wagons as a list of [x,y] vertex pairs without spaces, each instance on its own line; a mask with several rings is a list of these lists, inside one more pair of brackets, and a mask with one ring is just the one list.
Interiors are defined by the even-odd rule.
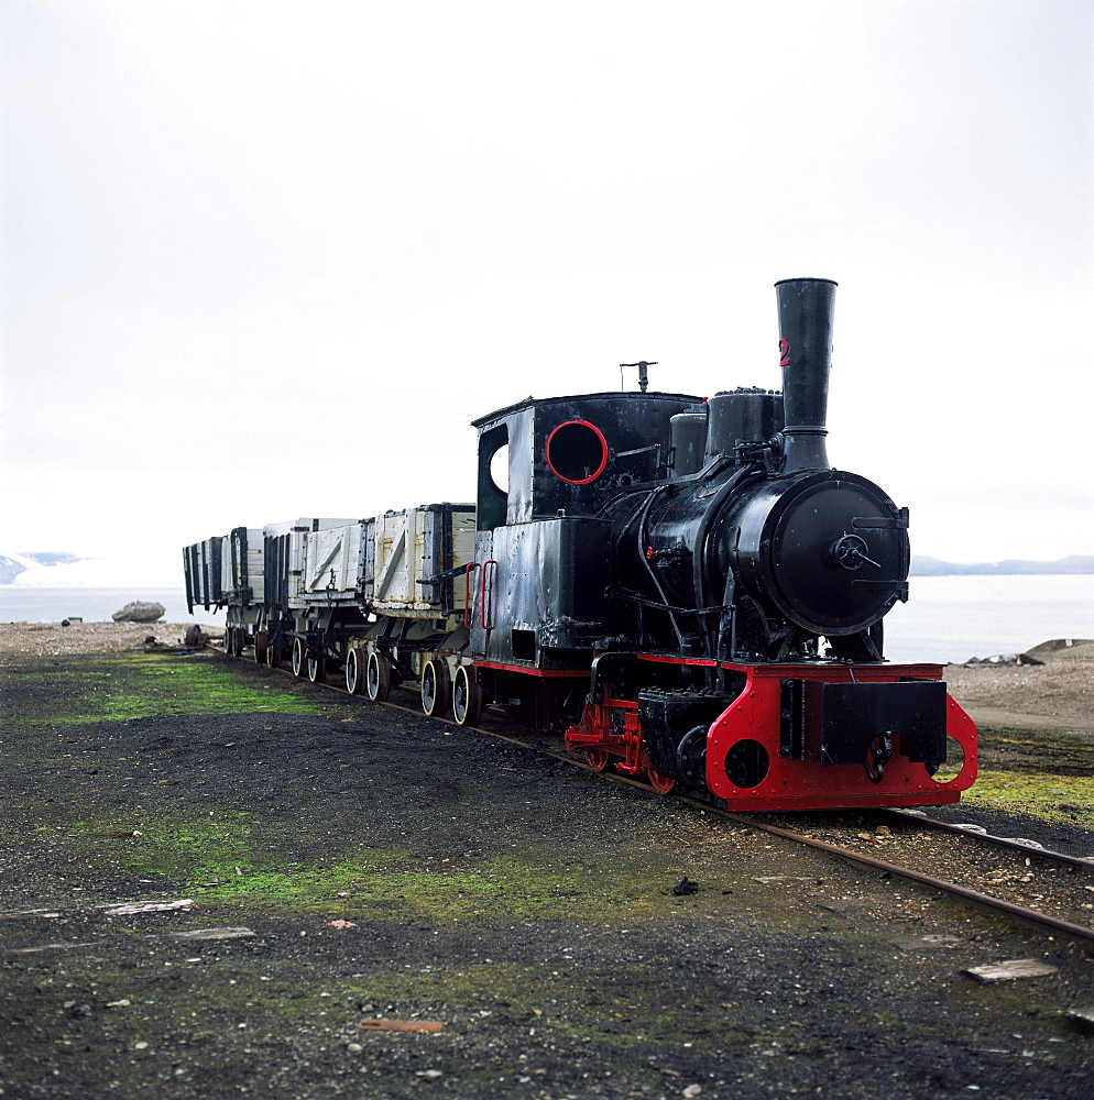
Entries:
[[[976,732],[889,664],[908,513],[825,453],[836,284],[776,284],[783,392],[527,399],[473,422],[474,505],[237,528],[184,551],[226,648],[341,669],[464,725],[484,706],[598,770],[742,810],[955,802]],[[943,770],[944,769],[944,770]]]

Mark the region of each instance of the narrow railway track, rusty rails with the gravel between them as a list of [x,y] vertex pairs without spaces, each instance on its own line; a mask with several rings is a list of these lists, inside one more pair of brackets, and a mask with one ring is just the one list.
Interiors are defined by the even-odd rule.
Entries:
[[[239,659],[231,658],[222,649],[209,648],[229,660]],[[296,679],[288,669],[269,671]],[[315,686],[349,696],[349,692],[333,683],[320,682]],[[409,691],[406,694],[413,698]],[[381,705],[425,717],[418,706],[392,700]],[[435,721],[455,724],[448,718]],[[529,740],[516,735],[516,729],[524,727],[508,719],[499,721],[504,723],[500,729],[475,728],[489,737],[551,757],[609,782],[652,790],[648,784],[630,777],[598,771],[583,759],[562,751],[557,739],[554,746],[550,739],[543,737]],[[871,821],[884,822],[875,825],[872,833],[864,832],[861,821],[849,824],[840,815],[816,813],[801,815],[802,821],[796,818],[795,827],[790,828],[786,815],[742,814],[686,793],[670,796],[725,821],[823,851],[872,875],[916,883],[1094,952],[1094,858],[1052,851],[1036,842],[993,836],[976,826],[951,825],[909,811],[869,811]],[[947,843],[940,845],[939,835],[944,835]],[[933,843],[925,843],[928,837]],[[888,858],[878,858],[880,850]],[[895,862],[897,857],[899,861]],[[943,860],[950,875],[945,879],[932,873]]]

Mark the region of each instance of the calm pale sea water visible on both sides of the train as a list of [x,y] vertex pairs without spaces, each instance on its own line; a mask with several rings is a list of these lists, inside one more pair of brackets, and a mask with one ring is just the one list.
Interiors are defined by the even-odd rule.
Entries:
[[[885,619],[893,661],[967,661],[1017,653],[1050,638],[1094,638],[1094,574],[1077,576],[914,576],[907,604]],[[223,624],[200,608],[192,618],[175,588],[14,588],[0,586],[0,622],[56,623],[69,615],[110,622],[131,600],[157,601],[168,623]]]

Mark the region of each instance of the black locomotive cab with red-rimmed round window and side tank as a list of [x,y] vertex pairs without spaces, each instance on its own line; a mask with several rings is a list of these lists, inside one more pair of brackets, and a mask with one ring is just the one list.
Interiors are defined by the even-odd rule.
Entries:
[[558,689],[587,681],[609,620],[612,531],[604,508],[631,486],[665,477],[671,418],[697,402],[660,393],[529,398],[474,421],[470,640],[488,696],[517,700],[525,710],[535,700],[543,717],[546,681]]

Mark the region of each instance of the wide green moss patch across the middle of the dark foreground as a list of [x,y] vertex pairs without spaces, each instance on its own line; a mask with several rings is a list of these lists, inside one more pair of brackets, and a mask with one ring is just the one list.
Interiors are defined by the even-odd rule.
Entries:
[[103,870],[169,881],[173,890],[205,901],[283,914],[428,920],[437,927],[529,920],[641,921],[664,912],[664,891],[672,879],[659,865],[625,872],[608,867],[578,870],[535,845],[524,853],[452,867],[409,849],[348,854],[344,846],[332,851],[324,846],[320,854],[284,824],[228,811],[217,812],[215,821],[147,813],[84,817],[68,826],[41,825],[35,832],[51,838],[62,833],[75,858],[94,860]]

